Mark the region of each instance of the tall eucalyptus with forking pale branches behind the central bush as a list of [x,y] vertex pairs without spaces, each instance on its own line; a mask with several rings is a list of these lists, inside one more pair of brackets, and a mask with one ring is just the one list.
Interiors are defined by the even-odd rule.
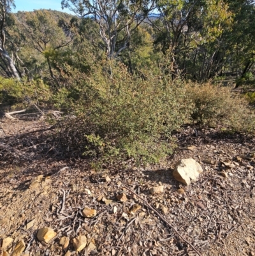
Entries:
[[131,36],[147,15],[154,10],[156,0],[62,0],[79,17],[90,17],[99,26],[108,59],[115,59],[128,47]]

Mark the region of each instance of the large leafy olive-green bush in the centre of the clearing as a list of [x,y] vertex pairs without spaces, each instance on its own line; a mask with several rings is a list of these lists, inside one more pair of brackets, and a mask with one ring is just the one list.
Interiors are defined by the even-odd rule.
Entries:
[[71,121],[71,137],[79,131],[85,155],[159,162],[173,150],[171,132],[189,119],[184,84],[170,75],[146,73],[141,78],[130,75],[124,65],[105,63],[87,77],[71,80],[80,91],[73,104],[77,123]]

